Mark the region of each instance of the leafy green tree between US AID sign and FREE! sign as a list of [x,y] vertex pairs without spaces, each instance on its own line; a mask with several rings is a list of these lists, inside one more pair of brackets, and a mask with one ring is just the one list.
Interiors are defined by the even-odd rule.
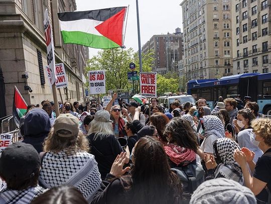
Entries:
[[129,48],[106,49],[98,52],[97,56],[88,60],[86,72],[91,70],[105,70],[106,91],[110,89],[128,89],[127,80],[129,63],[133,60],[133,50]]

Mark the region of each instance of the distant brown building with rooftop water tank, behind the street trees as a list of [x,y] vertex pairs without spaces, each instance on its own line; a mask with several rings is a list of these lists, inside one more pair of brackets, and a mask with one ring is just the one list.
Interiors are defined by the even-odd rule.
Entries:
[[175,33],[167,35],[154,35],[142,47],[143,53],[150,50],[154,52],[153,72],[166,74],[178,72],[178,61],[183,57],[183,33],[177,28]]

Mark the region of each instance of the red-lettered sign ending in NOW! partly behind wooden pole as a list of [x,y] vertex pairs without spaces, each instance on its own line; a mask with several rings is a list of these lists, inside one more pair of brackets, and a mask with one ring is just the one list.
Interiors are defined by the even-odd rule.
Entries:
[[[49,79],[49,84],[50,84],[51,70],[49,69],[49,66],[45,66],[44,69],[47,73],[47,76]],[[66,75],[64,64],[63,63],[56,64],[55,72],[56,72],[56,76],[57,76],[56,88],[67,87],[68,86],[68,78]]]

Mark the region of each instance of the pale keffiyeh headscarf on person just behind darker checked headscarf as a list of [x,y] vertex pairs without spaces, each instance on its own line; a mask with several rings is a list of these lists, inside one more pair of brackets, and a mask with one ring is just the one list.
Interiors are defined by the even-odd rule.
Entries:
[[208,137],[210,134],[215,134],[218,138],[225,137],[224,125],[217,116],[203,116],[203,125],[205,133],[202,136]]

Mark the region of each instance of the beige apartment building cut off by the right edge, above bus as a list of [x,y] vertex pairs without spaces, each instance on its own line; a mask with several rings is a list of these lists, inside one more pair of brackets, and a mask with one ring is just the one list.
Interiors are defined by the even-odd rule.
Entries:
[[270,72],[270,1],[233,0],[231,15],[233,73]]

